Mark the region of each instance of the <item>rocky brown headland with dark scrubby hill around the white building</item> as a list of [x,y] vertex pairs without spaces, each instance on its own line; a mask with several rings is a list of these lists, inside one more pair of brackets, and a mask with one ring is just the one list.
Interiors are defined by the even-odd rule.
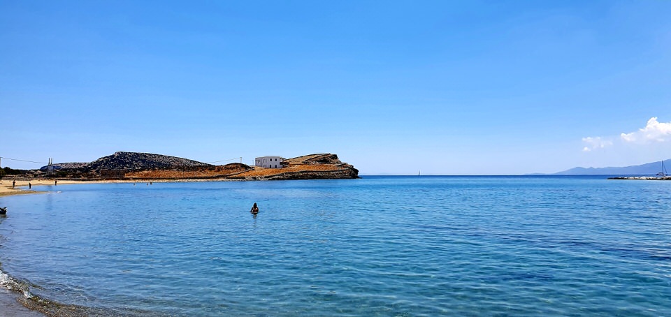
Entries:
[[71,180],[179,180],[179,179],[355,179],[359,170],[336,154],[310,154],[281,158],[277,168],[243,163],[211,165],[161,154],[116,152],[90,163],[55,163],[25,170],[17,177]]

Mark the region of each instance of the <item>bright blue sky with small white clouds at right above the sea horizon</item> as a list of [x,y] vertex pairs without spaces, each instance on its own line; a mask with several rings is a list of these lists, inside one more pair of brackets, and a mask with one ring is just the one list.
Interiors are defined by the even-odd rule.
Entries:
[[0,156],[649,163],[671,158],[669,17],[671,1],[0,0]]

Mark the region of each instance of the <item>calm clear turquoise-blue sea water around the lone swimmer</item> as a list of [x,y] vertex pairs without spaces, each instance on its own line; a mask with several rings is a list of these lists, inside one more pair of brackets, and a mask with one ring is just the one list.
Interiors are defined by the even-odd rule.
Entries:
[[51,192],[0,198],[3,272],[31,294],[105,314],[671,316],[671,182],[38,189]]

